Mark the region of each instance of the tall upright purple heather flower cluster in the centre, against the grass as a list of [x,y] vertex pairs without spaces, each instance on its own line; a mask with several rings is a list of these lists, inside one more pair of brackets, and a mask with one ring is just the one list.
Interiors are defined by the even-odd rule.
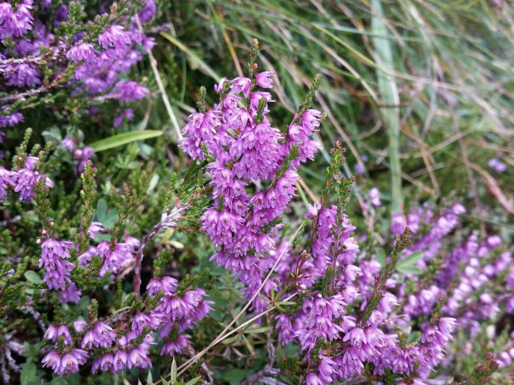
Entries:
[[[253,43],[255,44],[255,43]],[[253,46],[252,49],[255,49]],[[275,230],[295,196],[300,163],[314,159],[322,114],[304,108],[286,132],[272,127],[268,103],[273,72],[222,79],[215,86],[220,103],[209,111],[191,114],[181,146],[193,159],[209,159],[213,205],[201,216],[201,229],[219,248],[212,259],[245,283],[251,297],[273,261],[265,258],[275,246]],[[315,80],[313,89],[319,85]],[[204,147],[205,146],[205,147]],[[266,191],[250,192],[250,185],[267,184]],[[264,288],[269,292],[272,284]],[[255,304],[263,310],[265,302]]]

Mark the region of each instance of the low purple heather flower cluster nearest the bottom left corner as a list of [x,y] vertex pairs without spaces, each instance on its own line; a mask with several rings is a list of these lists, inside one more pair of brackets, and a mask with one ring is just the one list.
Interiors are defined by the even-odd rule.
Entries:
[[93,373],[150,368],[150,350],[156,344],[154,331],[165,340],[161,355],[180,354],[190,347],[191,337],[185,332],[210,312],[213,302],[205,299],[206,292],[200,288],[178,294],[177,284],[172,277],[152,279],[147,292],[160,299],[148,311],[138,311],[130,317],[126,314],[116,328],[109,325],[115,322],[113,319],[78,319],[72,322],[72,335],[66,323],[49,325],[45,339],[62,344],[57,343],[57,349],[43,358],[43,366],[58,375],[77,373],[87,362]]

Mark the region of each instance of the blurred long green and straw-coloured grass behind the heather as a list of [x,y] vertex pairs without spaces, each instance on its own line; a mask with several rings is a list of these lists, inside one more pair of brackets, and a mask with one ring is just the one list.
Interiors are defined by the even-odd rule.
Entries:
[[[514,6],[503,0],[218,0],[163,8],[153,54],[180,126],[200,85],[246,74],[249,43],[275,78],[284,128],[313,76],[324,75],[315,108],[327,111],[322,156],[301,170],[301,193],[318,196],[328,150],[347,148],[356,164],[355,209],[379,187],[393,211],[415,202],[460,200],[482,230],[514,214]],[[279,81],[280,79],[280,81]],[[148,128],[168,127],[160,98],[140,107]],[[144,111],[144,109],[146,109]],[[508,167],[499,175],[490,158]],[[357,205],[359,203],[359,205]]]

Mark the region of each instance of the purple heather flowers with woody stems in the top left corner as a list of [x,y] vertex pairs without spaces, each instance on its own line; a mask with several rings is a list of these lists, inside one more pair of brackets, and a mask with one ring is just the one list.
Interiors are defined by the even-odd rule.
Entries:
[[[100,5],[94,12],[98,16],[88,23],[84,7],[89,6],[62,2],[56,7],[51,1],[34,4],[32,0],[0,3],[0,41],[11,47],[0,53],[3,90],[10,92],[2,98],[0,128],[24,121],[19,109],[24,101],[61,87],[65,98],[87,95],[91,101],[116,99],[124,104],[149,93],[123,74],[143,59],[142,51],[155,45],[154,38],[137,25],[152,21],[154,0],[126,2],[111,10]],[[101,28],[94,28],[95,24]],[[95,105],[87,111],[97,112]],[[119,124],[119,119],[114,122],[115,127]],[[0,143],[4,136],[0,131]]]

